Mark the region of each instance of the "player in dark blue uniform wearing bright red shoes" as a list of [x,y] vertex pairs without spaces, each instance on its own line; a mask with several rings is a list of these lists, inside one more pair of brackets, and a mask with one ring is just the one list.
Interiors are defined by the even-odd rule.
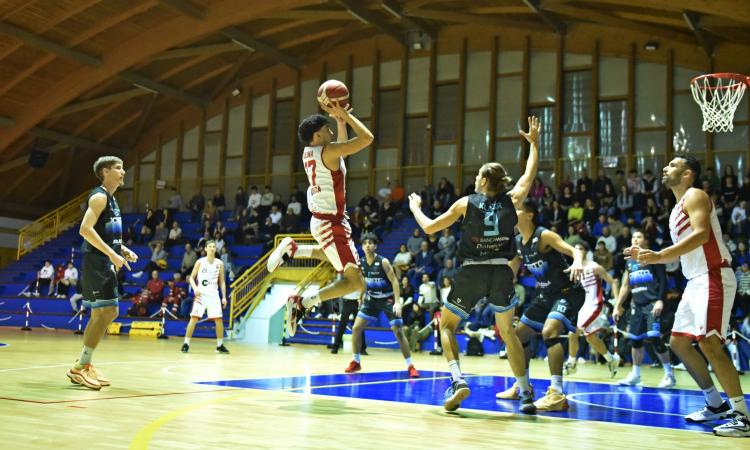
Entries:
[[398,278],[393,272],[393,267],[387,258],[375,253],[378,248],[377,238],[373,235],[365,235],[362,239],[362,250],[365,251],[365,259],[362,261],[362,274],[365,277],[365,291],[360,294],[360,303],[357,318],[352,328],[352,351],[354,359],[344,371],[346,373],[357,372],[362,369],[360,365],[360,349],[362,343],[362,332],[368,321],[377,320],[380,312],[385,313],[391,325],[393,335],[396,336],[401,354],[406,360],[406,370],[409,377],[419,378],[419,372],[414,368],[411,360],[409,341],[404,335],[403,313],[404,300],[401,298],[401,289]]

